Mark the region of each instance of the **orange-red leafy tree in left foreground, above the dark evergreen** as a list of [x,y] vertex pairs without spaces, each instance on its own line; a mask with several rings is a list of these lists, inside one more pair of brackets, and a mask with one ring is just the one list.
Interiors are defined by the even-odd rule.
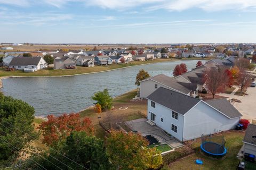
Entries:
[[63,114],[58,117],[48,115],[47,121],[42,122],[38,129],[42,132],[43,143],[48,146],[56,145],[66,139],[73,131],[84,131],[87,135],[93,135],[94,133],[90,118],[85,117],[81,121],[78,113]]

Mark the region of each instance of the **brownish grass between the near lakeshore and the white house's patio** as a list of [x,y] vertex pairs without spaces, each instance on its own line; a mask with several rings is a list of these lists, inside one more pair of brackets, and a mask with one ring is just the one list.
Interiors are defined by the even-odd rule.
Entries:
[[[132,90],[130,92],[127,92],[126,94],[123,94],[121,96],[118,96],[114,99],[114,107],[115,109],[118,109],[120,107],[127,106],[128,108],[125,110],[112,110],[107,112],[102,112],[100,114],[97,114],[94,112],[93,107],[90,107],[86,109],[85,111],[82,111],[81,118],[89,117],[92,120],[92,123],[94,125],[95,129],[95,135],[98,138],[104,138],[106,135],[105,130],[100,126],[99,121],[109,121],[115,123],[115,122],[122,122],[119,123],[120,126],[122,126],[123,129],[127,129],[126,125],[124,124],[125,121],[134,120],[137,118],[144,117],[147,114],[147,104],[145,101],[130,101],[132,98],[134,98],[137,95],[137,89]],[[141,112],[138,114],[138,112]],[[100,117],[100,118],[98,118]]]

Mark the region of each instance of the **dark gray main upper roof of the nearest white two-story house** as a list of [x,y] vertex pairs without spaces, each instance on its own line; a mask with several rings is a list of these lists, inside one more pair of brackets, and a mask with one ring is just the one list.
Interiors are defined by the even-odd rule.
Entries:
[[187,113],[192,107],[194,107],[199,101],[201,101],[197,98],[190,97],[181,94],[180,92],[165,89],[162,87],[155,90],[147,98],[182,115]]

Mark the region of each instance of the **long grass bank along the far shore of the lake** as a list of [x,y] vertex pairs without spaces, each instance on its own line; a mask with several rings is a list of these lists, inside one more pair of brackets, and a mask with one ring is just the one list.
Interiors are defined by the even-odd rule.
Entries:
[[85,73],[94,73],[100,71],[109,71],[113,69],[122,69],[124,67],[141,65],[141,64],[152,64],[152,63],[159,63],[159,62],[167,62],[167,61],[178,61],[174,58],[162,59],[158,58],[156,60],[149,60],[149,61],[133,61],[132,63],[127,64],[111,64],[108,66],[99,66],[95,65],[94,67],[83,67],[77,66],[77,69],[61,69],[61,70],[54,70],[52,67],[47,69],[38,70],[36,72],[23,72],[22,70],[15,70],[15,71],[4,71],[0,69],[0,77],[5,76],[63,76],[63,75],[76,75],[76,74],[85,74]]

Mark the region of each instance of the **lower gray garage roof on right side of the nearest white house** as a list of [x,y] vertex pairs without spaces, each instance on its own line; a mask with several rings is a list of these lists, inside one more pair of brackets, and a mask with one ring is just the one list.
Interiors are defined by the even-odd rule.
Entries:
[[216,108],[218,111],[220,111],[221,113],[225,114],[230,118],[242,116],[242,114],[238,112],[237,109],[233,105],[231,105],[230,102],[225,98],[206,100],[205,103]]

